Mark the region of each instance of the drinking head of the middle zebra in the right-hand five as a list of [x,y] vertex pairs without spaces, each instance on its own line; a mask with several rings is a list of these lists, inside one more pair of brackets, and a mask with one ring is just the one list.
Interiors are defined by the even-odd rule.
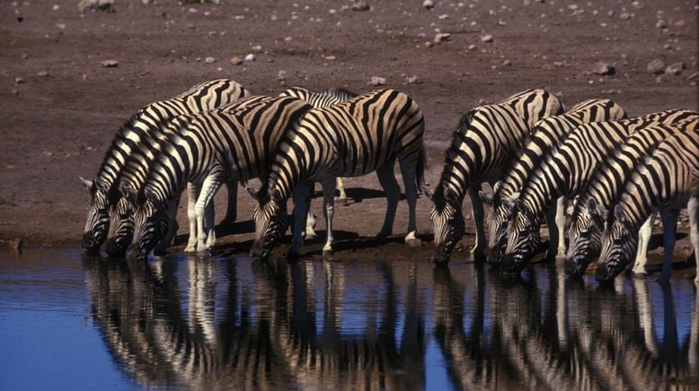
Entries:
[[507,228],[508,244],[500,265],[500,269],[506,274],[521,272],[541,242],[538,218],[522,200],[515,201],[512,213]]

